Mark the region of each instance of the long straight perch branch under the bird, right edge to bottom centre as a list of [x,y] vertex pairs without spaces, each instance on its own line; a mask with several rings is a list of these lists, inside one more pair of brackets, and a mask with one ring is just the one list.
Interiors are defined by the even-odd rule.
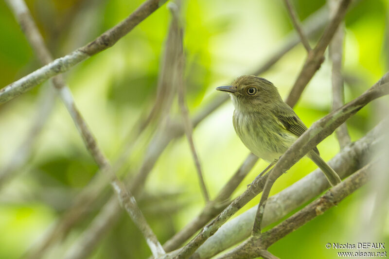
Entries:
[[[216,230],[224,224],[236,211],[238,211],[249,200],[255,197],[259,190],[261,190],[264,182],[266,185],[273,183],[275,179],[284,170],[288,170],[294,163],[296,163],[306,152],[314,148],[318,142],[323,138],[331,134],[338,125],[343,123],[347,118],[351,117],[364,105],[370,101],[389,94],[389,72],[385,74],[379,82],[367,90],[364,94],[354,99],[352,102],[345,104],[342,108],[328,114],[323,119],[315,122],[308,131],[306,131],[280,158],[280,160],[273,167],[272,172],[265,174],[261,178],[255,178],[243,194],[236,198],[230,206],[228,206],[219,216],[217,216],[210,224],[206,225],[200,233],[198,233],[194,239],[192,239],[187,245],[185,245],[175,259],[188,258],[195,250],[204,243],[210,236],[212,236]],[[305,152],[305,153],[304,153]],[[275,174],[276,173],[276,174]],[[266,180],[269,177],[272,179]],[[265,189],[264,189],[265,190]],[[268,192],[268,190],[266,190]],[[265,191],[262,197],[268,196]],[[261,197],[261,200],[262,200]],[[266,197],[267,198],[267,197]],[[169,254],[166,256],[169,258]]]

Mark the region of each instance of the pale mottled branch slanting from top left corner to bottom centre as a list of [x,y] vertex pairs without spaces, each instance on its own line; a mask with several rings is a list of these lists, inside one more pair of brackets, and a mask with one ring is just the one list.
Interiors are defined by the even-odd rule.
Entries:
[[[50,62],[52,60],[52,56],[47,50],[42,36],[40,35],[25,2],[23,0],[13,0],[9,1],[9,5],[22,25],[22,29],[25,32],[27,38],[34,46],[34,49],[36,49],[38,52],[39,58],[41,58],[42,61],[44,60],[46,63]],[[70,113],[89,153],[92,155],[101,171],[105,173],[110,179],[112,188],[116,192],[120,204],[141,230],[153,255],[159,256],[165,254],[162,246],[157,240],[157,237],[151,230],[150,226],[147,224],[143,214],[141,213],[141,210],[137,206],[134,197],[128,190],[126,190],[123,183],[116,177],[105,155],[99,149],[96,140],[88,129],[86,121],[82,118],[74,103],[69,87],[66,86],[65,81],[61,75],[53,77],[53,86],[57,90],[62,102],[65,104],[68,112]]]

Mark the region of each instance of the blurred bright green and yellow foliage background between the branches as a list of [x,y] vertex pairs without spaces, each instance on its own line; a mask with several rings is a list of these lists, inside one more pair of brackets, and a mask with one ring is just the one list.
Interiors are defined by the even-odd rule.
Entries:
[[[325,0],[292,2],[301,20],[326,4]],[[54,57],[88,43],[141,3],[141,0],[27,0]],[[387,0],[361,0],[346,16],[343,62],[346,102],[359,96],[388,70],[388,8]],[[293,30],[282,0],[194,0],[187,1],[183,10],[187,101],[191,114],[215,95],[224,94],[215,93],[216,86],[229,84],[235,77],[258,69]],[[127,132],[154,101],[169,21],[170,13],[164,5],[112,48],[66,73],[81,113],[110,160],[117,157]],[[0,1],[0,32],[0,87],[3,87],[40,65],[3,1]],[[313,38],[311,46],[318,36]],[[306,51],[298,45],[261,76],[278,86],[285,97],[305,57]],[[0,168],[23,140],[34,118],[42,87],[37,86],[0,106]],[[326,54],[326,60],[295,110],[310,126],[331,110],[331,102],[331,62]],[[347,121],[353,141],[364,136],[376,122],[371,115],[372,106],[368,105]],[[194,131],[211,197],[248,154],[233,130],[232,111],[230,102],[224,104]],[[173,105],[172,113],[178,114],[177,104]],[[140,141],[129,159],[127,168],[132,173],[140,166],[146,140]],[[325,160],[336,155],[339,146],[335,135],[322,141],[318,149]],[[265,162],[258,162],[234,196],[245,190],[265,166]],[[301,159],[276,182],[272,193],[283,190],[314,169],[313,162]],[[39,135],[33,157],[0,192],[0,258],[18,258],[39,240],[96,170],[69,114],[56,102]],[[280,258],[335,258],[334,250],[325,249],[324,245],[352,242],[352,237],[360,231],[359,213],[366,191],[366,188],[358,190],[337,207],[272,245],[269,251]],[[141,210],[162,243],[201,210],[204,202],[186,138],[172,141],[159,157],[144,193]],[[258,201],[257,197],[239,213]],[[78,224],[53,255],[61,255],[66,250],[100,206],[96,205],[93,215]],[[156,212],[158,206],[165,208],[162,215]],[[389,243],[389,219],[382,229],[385,238],[377,242]],[[123,214],[120,223],[108,232],[90,258],[138,259],[149,254],[140,232]]]

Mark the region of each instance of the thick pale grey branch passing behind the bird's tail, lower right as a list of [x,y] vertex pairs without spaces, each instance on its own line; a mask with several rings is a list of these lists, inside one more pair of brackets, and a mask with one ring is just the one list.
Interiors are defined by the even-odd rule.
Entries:
[[[366,157],[372,157],[382,143],[382,135],[387,133],[389,120],[381,121],[368,134],[354,143],[350,143],[334,156],[328,164],[344,179],[360,169]],[[293,185],[271,196],[265,207],[263,225],[273,224],[301,207],[329,187],[327,179],[320,169],[309,173]],[[194,258],[212,258],[230,246],[244,241],[251,235],[257,206],[254,206],[226,224],[204,242],[193,254]]]

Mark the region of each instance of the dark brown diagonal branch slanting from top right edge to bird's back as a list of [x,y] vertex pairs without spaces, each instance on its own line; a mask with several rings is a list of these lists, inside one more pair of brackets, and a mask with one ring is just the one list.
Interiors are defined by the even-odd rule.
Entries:
[[323,61],[323,54],[332,37],[334,36],[338,25],[346,15],[346,11],[350,5],[350,2],[351,0],[342,0],[339,3],[335,17],[333,17],[330,23],[327,25],[316,47],[308,53],[308,57],[305,60],[300,74],[297,77],[296,82],[293,85],[287,99],[285,100],[285,103],[289,104],[289,106],[292,108],[297,103],[305,86],[312,79],[315,72],[320,68],[320,64]]

